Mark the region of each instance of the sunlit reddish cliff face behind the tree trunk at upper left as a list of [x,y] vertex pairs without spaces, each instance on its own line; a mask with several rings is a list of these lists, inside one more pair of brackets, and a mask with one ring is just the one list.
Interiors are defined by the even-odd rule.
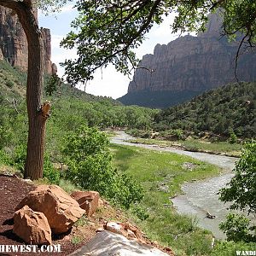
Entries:
[[[35,10],[35,15],[38,16]],[[52,73],[50,32],[41,28],[44,38],[44,72]],[[17,15],[11,10],[0,7],[0,60],[6,59],[13,67],[27,68],[26,34],[20,25]]]

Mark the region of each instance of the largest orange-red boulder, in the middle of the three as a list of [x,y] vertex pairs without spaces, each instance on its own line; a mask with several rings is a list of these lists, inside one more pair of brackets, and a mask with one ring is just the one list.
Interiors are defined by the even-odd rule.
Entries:
[[70,230],[85,212],[77,201],[56,185],[38,186],[20,201],[16,209],[19,210],[26,205],[33,211],[44,213],[54,234]]

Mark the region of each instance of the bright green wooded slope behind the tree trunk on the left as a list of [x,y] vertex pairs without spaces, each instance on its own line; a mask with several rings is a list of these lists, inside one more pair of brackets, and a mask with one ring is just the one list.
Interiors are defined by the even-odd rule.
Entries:
[[[26,74],[2,61],[0,82],[0,150],[11,154],[15,154],[15,150],[25,153]],[[45,79],[44,84],[48,86],[49,78]],[[145,130],[152,125],[155,113],[159,112],[150,108],[125,107],[112,98],[92,96],[63,83],[57,85],[52,96],[46,96],[44,92],[45,100],[49,100],[52,106],[46,132],[46,150],[52,160],[60,160],[65,136],[79,125],[96,126],[99,129],[127,126]]]

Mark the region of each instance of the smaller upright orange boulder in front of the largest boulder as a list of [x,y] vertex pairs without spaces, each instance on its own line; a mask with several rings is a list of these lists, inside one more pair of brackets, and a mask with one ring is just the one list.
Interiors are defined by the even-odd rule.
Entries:
[[28,244],[51,244],[51,230],[43,212],[28,206],[15,212],[13,232]]

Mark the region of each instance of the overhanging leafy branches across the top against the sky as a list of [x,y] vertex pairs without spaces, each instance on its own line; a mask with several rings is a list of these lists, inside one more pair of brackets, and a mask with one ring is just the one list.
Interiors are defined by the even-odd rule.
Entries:
[[108,64],[130,74],[139,63],[134,49],[154,24],[172,13],[172,32],[204,30],[207,15],[218,9],[224,34],[236,38],[242,32],[241,44],[249,46],[256,39],[256,3],[251,0],[79,0],[76,7],[79,16],[72,23],[73,32],[61,42],[67,49],[76,48],[79,56],[63,63],[72,84],[93,79],[96,69]]

